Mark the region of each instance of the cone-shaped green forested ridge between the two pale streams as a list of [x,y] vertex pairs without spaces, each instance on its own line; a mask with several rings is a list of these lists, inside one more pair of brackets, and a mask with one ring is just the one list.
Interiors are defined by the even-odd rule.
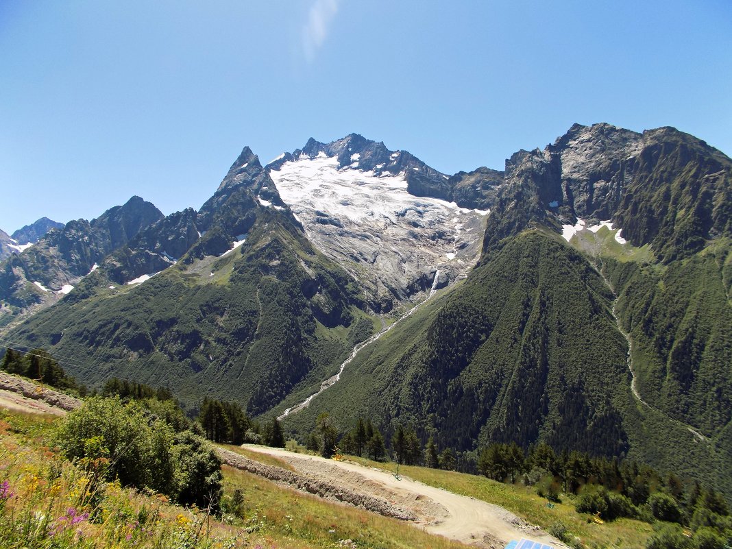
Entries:
[[332,409],[347,424],[370,411],[381,422],[434,427],[441,446],[528,447],[541,437],[624,454],[619,408],[630,380],[611,299],[581,255],[527,231],[367,348],[340,384],[291,421],[307,425]]

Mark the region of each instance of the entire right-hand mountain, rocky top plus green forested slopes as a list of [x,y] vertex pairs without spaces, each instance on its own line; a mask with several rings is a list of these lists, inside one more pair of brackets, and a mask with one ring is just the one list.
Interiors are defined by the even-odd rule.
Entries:
[[[468,280],[362,351],[285,426],[376,414],[423,439],[436,431],[440,447],[545,441],[731,493],[731,165],[676,130],[608,124],[515,154]],[[556,232],[578,219],[611,219],[630,242],[602,228],[570,247]]]

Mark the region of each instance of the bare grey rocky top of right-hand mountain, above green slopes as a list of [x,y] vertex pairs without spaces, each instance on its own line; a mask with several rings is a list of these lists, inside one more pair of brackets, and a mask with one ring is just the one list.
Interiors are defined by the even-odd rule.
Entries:
[[575,124],[545,149],[506,161],[484,247],[536,223],[560,231],[578,220],[612,221],[624,239],[670,261],[732,234],[731,174],[728,157],[671,127]]

